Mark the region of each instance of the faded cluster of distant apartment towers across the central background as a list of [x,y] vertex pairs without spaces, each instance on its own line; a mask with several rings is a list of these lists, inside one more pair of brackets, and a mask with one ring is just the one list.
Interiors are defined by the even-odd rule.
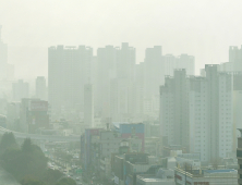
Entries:
[[[160,46],[147,48],[140,64],[135,48],[126,42],[120,48],[98,48],[96,55],[93,52],[93,48],[85,46],[49,48],[48,95],[52,118],[75,111],[84,116],[94,114],[104,122],[157,120],[158,89],[165,75],[177,67],[194,75],[194,57],[162,55]],[[92,98],[85,98],[86,85],[92,86]],[[93,113],[87,113],[86,108]],[[77,121],[94,126],[92,118]]]

